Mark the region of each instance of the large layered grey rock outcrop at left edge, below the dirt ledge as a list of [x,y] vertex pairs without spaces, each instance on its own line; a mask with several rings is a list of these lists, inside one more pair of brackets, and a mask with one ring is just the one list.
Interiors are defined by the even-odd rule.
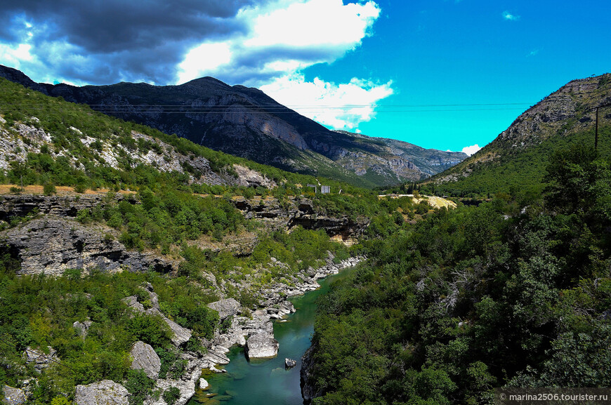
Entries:
[[75,220],[46,217],[0,232],[9,251],[20,258],[20,274],[60,276],[67,269],[140,272],[150,267],[174,270],[174,263],[152,254],[127,251],[114,239],[105,238],[102,227],[85,227]]

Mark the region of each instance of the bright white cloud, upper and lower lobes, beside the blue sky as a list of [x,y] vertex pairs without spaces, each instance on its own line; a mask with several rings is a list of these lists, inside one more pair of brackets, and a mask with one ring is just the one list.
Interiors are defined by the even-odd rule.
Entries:
[[212,76],[256,86],[321,124],[353,130],[374,118],[376,102],[393,94],[392,82],[306,81],[302,71],[334,62],[360,46],[380,13],[374,1],[280,0],[243,8],[237,20],[247,31],[193,48],[179,65],[177,82]]

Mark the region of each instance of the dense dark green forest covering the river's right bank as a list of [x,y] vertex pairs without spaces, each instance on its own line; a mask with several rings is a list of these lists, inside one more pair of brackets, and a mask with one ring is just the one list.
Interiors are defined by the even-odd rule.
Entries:
[[611,169],[556,152],[540,198],[497,194],[362,244],[322,298],[314,404],[478,404],[611,385]]

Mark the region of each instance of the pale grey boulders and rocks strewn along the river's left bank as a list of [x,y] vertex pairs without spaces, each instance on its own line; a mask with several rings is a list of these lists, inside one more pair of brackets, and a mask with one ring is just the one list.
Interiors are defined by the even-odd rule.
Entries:
[[[274,338],[272,322],[287,316],[295,311],[292,303],[287,300],[291,296],[300,295],[307,291],[312,291],[319,287],[318,279],[327,277],[331,274],[337,274],[346,267],[352,267],[359,263],[364,258],[348,258],[341,260],[339,263],[334,263],[334,258],[329,255],[327,264],[317,269],[304,270],[296,274],[294,277],[298,281],[294,285],[276,283],[272,286],[263,288],[261,291],[261,303],[263,306],[252,311],[250,308],[245,308],[233,298],[224,298],[216,302],[210,303],[209,307],[216,310],[219,314],[223,330],[217,329],[214,337],[211,340],[201,339],[200,343],[206,347],[205,352],[192,352],[185,350],[185,343],[192,337],[190,329],[180,326],[172,321],[159,307],[159,299],[151,284],[143,286],[144,291],[148,295],[148,299],[143,302],[139,301],[136,296],[124,298],[123,302],[135,314],[155,314],[159,315],[173,332],[171,339],[173,345],[178,352],[178,358],[185,363],[183,374],[180,378],[162,378],[159,375],[161,360],[150,345],[143,342],[136,342],[131,350],[133,359],[131,368],[142,369],[145,374],[155,380],[155,390],[157,392],[165,392],[166,390],[176,387],[180,396],[176,400],[177,405],[186,404],[191,399],[198,388],[205,389],[208,385],[206,380],[202,378],[203,371],[212,373],[223,373],[223,369],[218,366],[223,366],[229,363],[227,353],[234,345],[244,347],[244,354],[248,359],[262,359],[275,357],[277,355],[279,344]],[[282,265],[277,260],[275,265]],[[141,298],[140,298],[141,299]],[[147,309],[145,309],[145,305]],[[75,331],[86,336],[88,328],[92,322],[84,320],[84,322],[75,322]],[[28,363],[34,364],[35,368],[40,370],[46,368],[52,361],[61,359],[55,356],[55,350],[52,347],[48,348],[49,354],[44,354],[34,348],[28,348],[25,352]],[[8,394],[6,394],[8,392]],[[13,394],[18,392],[21,397],[27,397],[29,385],[24,387],[12,388],[5,387],[5,397],[18,397]],[[100,402],[101,401],[101,402]],[[129,394],[123,385],[110,380],[103,380],[98,383],[88,385],[79,385],[76,388],[75,404],[77,405],[93,405],[112,401],[115,404],[128,405]],[[15,403],[15,405],[17,405]],[[155,399],[150,397],[145,401],[145,405],[165,405],[163,399]]]

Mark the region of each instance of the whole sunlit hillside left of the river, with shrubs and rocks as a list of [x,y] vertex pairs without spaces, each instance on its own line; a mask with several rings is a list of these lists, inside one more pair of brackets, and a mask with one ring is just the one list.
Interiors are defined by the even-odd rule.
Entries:
[[277,352],[287,298],[359,263],[370,223],[430,210],[5,79],[0,182],[0,398],[33,404],[184,405],[229,347]]

